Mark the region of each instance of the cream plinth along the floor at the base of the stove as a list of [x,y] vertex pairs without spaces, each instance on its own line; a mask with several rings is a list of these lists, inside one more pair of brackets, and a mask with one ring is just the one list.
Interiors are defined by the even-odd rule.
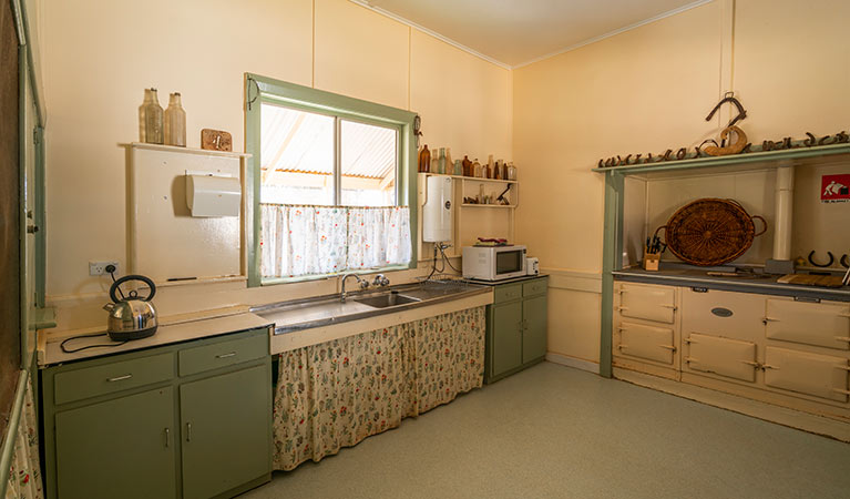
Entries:
[[769,422],[850,442],[850,424],[615,367],[614,378]]

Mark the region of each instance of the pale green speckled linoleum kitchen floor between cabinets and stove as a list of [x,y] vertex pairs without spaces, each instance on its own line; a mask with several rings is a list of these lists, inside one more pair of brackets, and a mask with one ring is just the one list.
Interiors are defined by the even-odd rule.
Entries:
[[850,445],[543,363],[245,496],[850,498]]

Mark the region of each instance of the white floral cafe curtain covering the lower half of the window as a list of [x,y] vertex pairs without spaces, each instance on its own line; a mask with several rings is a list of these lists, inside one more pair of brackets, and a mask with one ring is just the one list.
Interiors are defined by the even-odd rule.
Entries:
[[260,274],[332,274],[410,262],[410,208],[262,204]]

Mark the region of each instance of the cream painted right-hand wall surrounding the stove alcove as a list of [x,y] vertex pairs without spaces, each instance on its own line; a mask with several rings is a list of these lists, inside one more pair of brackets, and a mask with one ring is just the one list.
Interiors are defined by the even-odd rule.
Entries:
[[[704,118],[726,90],[743,99],[749,112],[744,129],[752,141],[846,130],[850,102],[840,95],[850,86],[850,45],[842,27],[848,19],[850,4],[842,0],[817,7],[796,0],[717,0],[514,70],[513,147],[526,201],[518,210],[519,240],[555,276],[598,276],[604,182],[591,169],[601,157],[693,147],[717,134],[720,122]],[[744,197],[751,214],[770,215],[769,176],[677,185],[694,196],[708,190]],[[655,201],[651,225],[666,220],[669,205],[680,201],[666,197]],[[831,221],[840,216],[832,212],[841,208],[806,205],[812,216],[823,210]],[[806,223],[798,222],[800,216],[798,226]],[[639,225],[639,216],[627,221]],[[754,248],[759,258],[772,246],[770,233],[762,237]],[[587,294],[594,296],[577,298]],[[598,360],[594,299],[595,292],[550,293],[552,352]]]

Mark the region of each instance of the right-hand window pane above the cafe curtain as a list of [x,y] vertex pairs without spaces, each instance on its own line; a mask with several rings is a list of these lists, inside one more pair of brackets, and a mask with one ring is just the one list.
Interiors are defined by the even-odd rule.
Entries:
[[342,120],[340,139],[342,205],[393,206],[396,130]]

